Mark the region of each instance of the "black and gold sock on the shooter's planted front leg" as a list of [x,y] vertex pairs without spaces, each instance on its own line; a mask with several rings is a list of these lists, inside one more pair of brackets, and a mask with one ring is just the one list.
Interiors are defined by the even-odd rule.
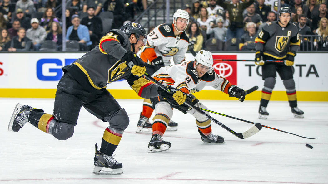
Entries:
[[107,127],[105,129],[99,151],[108,156],[112,156],[122,138],[122,135],[123,131],[117,131],[114,128]]

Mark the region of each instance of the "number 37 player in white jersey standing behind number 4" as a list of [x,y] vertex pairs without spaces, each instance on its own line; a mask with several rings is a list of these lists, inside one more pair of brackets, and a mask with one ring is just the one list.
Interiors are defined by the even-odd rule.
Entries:
[[[173,15],[173,24],[161,24],[147,36],[147,44],[141,50],[140,58],[146,63],[146,72],[152,75],[162,66],[169,66],[185,59],[189,38],[185,32],[189,23],[189,14],[178,9]],[[154,109],[149,99],[144,99],[142,112],[138,121],[137,133],[152,133],[149,122]],[[176,131],[178,124],[170,120],[169,131]]]

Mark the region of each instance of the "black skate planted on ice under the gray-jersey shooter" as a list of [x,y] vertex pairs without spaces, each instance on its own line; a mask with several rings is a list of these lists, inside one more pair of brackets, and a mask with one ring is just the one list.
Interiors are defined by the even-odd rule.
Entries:
[[96,153],[94,156],[94,169],[93,174],[95,175],[120,175],[123,173],[122,163],[118,163],[113,156],[108,156],[104,153],[98,151],[98,146],[96,146]]

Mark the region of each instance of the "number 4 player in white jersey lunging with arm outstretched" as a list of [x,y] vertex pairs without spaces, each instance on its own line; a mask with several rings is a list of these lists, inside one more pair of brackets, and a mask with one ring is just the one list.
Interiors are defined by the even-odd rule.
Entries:
[[[241,102],[244,101],[245,91],[217,75],[212,69],[212,65],[213,57],[211,52],[200,50],[195,56],[195,61],[184,61],[181,64],[162,67],[153,74],[153,77],[157,81],[162,81],[164,85],[170,86],[169,88],[174,87],[187,94],[200,91],[205,86],[212,86],[227,93],[230,97],[237,97]],[[198,132],[202,141],[206,143],[225,143],[221,136],[212,134],[211,120],[194,109],[188,110],[189,107],[187,105],[177,105],[171,102],[170,104],[166,99],[172,97],[166,96],[167,94],[162,93],[157,98],[151,98],[156,114],[153,119],[153,135],[148,144],[148,152],[165,151],[171,147],[170,142],[162,139],[173,115],[171,107],[177,108],[184,113],[188,112],[196,118]],[[191,101],[195,106],[206,109],[206,106],[193,95],[189,94],[187,96],[190,96],[187,100],[192,99]]]

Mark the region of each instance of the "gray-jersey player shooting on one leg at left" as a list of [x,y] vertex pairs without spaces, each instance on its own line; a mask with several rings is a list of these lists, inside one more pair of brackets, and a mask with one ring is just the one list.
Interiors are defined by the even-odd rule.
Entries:
[[[136,23],[128,23],[121,30],[110,30],[98,46],[62,68],[64,75],[57,86],[52,115],[18,103],[8,130],[18,132],[29,122],[59,140],[66,140],[72,137],[83,106],[100,120],[109,123],[99,151],[96,144],[93,173],[122,174],[122,164],[112,155],[129,125],[129,117],[108,92],[106,85],[125,79],[140,97],[158,96],[158,86],[141,77],[146,71],[145,64],[134,53],[146,43],[146,38],[145,29]],[[186,99],[181,91],[173,96],[180,104]]]

